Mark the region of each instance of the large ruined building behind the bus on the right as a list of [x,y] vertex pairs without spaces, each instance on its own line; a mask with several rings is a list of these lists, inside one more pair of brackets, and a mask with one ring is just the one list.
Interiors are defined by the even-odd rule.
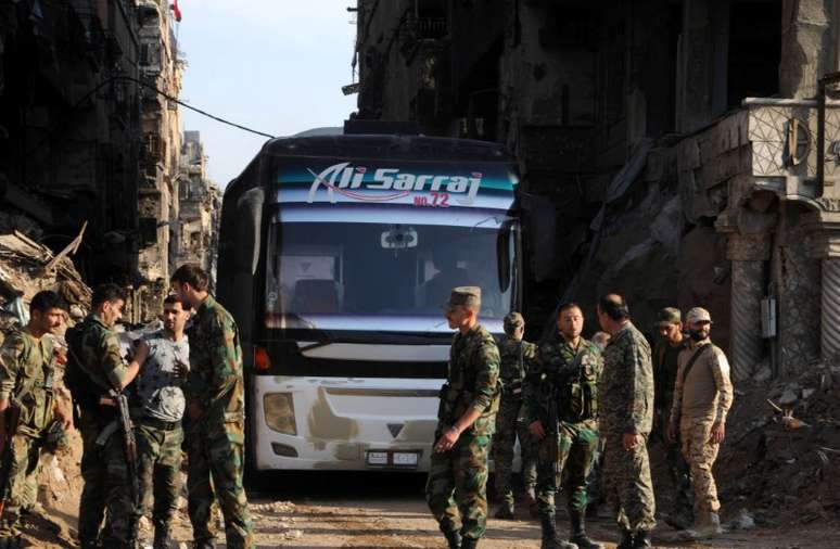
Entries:
[[534,324],[615,291],[646,331],[661,307],[709,308],[736,380],[840,352],[836,2],[356,10],[358,119],[516,152]]

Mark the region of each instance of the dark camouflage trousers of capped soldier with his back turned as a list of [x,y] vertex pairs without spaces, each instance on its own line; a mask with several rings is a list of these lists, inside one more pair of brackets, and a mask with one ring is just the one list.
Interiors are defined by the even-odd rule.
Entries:
[[519,438],[522,450],[522,478],[525,491],[534,493],[536,486],[536,447],[520,421],[522,398],[520,395],[502,395],[496,413],[496,433],[491,445],[496,478],[496,495],[506,503],[513,505],[513,448]]

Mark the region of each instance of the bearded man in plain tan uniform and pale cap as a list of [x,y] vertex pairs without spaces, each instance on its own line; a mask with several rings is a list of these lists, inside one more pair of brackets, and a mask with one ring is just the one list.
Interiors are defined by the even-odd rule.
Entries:
[[733,405],[729,362],[709,339],[712,317],[695,307],[686,315],[688,348],[679,354],[679,370],[674,386],[669,438],[682,439],[683,455],[691,469],[699,527],[698,537],[721,534],[717,488],[712,465],[726,435],[726,413]]

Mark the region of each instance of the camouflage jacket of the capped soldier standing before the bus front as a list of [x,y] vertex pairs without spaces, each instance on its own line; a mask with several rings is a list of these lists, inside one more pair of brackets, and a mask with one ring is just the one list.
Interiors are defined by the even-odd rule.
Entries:
[[469,432],[492,435],[499,403],[499,350],[481,324],[466,335],[455,334],[449,349],[449,373],[441,394],[438,419],[451,425],[469,408],[481,410]]

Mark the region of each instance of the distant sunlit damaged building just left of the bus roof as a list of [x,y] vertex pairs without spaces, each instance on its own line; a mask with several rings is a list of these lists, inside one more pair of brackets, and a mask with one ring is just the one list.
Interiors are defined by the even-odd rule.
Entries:
[[215,281],[221,191],[207,176],[207,156],[198,131],[183,132],[179,192],[178,264],[199,264]]

